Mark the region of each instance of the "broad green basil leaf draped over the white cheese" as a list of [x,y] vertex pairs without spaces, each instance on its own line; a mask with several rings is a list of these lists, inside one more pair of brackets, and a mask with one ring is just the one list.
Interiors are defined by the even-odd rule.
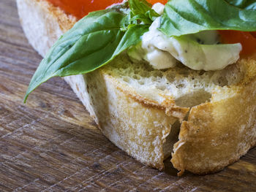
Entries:
[[256,11],[225,0],[172,0],[165,4],[159,30],[179,37],[207,30],[256,31]]

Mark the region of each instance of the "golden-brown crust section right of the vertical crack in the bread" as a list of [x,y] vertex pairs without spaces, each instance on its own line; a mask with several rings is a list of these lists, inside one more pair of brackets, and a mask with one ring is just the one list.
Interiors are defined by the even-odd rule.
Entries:
[[256,61],[247,59],[239,64],[244,65],[246,74],[239,85],[229,88],[233,93],[192,107],[188,120],[181,124],[171,159],[181,172],[217,172],[256,145]]

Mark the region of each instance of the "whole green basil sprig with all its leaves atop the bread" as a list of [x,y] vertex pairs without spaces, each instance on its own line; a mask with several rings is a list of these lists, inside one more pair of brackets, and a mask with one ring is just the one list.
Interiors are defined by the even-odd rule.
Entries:
[[[67,31],[39,64],[24,102],[51,77],[94,71],[138,45],[159,15],[146,0],[128,3],[129,9],[123,12],[120,5],[91,12]],[[123,6],[128,7],[127,2]],[[159,30],[170,37],[206,30],[256,31],[255,9],[255,0],[171,0],[165,5]]]

